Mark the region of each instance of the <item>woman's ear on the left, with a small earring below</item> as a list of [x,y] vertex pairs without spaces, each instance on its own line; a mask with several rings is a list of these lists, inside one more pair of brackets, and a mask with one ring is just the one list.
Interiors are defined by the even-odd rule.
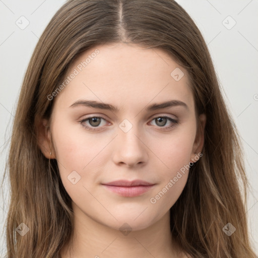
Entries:
[[[38,123],[38,146],[47,159],[55,159],[55,152],[51,143],[50,127],[47,119],[41,119]],[[51,154],[50,154],[51,153]]]

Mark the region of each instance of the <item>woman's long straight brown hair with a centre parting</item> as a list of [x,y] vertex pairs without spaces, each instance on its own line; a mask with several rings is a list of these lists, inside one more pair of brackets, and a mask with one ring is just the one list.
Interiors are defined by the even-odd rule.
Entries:
[[[73,60],[89,48],[130,42],[159,48],[186,69],[198,114],[207,116],[202,158],[170,210],[171,232],[192,257],[254,258],[247,220],[247,180],[241,145],[223,100],[206,43],[173,0],[71,0],[54,15],[34,50],[13,124],[9,162],[11,200],[8,258],[55,258],[71,240],[73,210],[55,159],[37,143],[39,121],[49,119],[52,94]],[[16,228],[24,223],[24,236]],[[236,231],[228,236],[223,227]],[[25,227],[22,224],[21,227]]]

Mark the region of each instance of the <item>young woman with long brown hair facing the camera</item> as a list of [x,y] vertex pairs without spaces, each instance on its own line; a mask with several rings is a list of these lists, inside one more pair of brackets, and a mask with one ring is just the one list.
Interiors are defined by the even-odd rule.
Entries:
[[174,1],[61,7],[24,79],[9,173],[9,258],[255,257],[237,132]]

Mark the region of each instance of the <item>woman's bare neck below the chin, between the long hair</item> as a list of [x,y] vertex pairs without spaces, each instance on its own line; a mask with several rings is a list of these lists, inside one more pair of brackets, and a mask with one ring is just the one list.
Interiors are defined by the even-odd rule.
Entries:
[[73,209],[74,235],[62,248],[61,258],[180,257],[170,232],[169,212],[150,227],[130,232],[93,220],[75,204]]

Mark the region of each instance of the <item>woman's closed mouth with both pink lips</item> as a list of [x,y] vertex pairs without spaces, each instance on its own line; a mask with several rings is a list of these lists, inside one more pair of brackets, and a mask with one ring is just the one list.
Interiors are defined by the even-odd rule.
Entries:
[[117,195],[123,197],[137,197],[143,195],[143,193],[150,190],[155,183],[150,183],[142,180],[126,181],[118,180],[108,183],[102,183],[102,185]]

